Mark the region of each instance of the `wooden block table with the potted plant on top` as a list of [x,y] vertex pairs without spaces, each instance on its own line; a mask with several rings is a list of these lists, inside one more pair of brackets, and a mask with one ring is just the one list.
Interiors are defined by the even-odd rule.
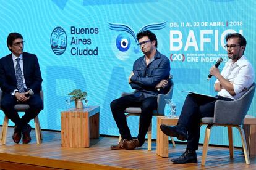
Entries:
[[100,106],[71,108],[61,112],[61,146],[90,147],[90,138],[99,138]]

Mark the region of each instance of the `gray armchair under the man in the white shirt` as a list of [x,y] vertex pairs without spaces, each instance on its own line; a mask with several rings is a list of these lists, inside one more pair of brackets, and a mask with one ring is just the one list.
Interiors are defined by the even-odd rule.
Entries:
[[215,103],[214,117],[202,118],[201,122],[207,124],[205,130],[205,141],[203,142],[202,153],[202,165],[205,165],[207,150],[210,140],[210,131],[213,126],[226,126],[228,127],[228,139],[229,139],[229,155],[233,158],[233,134],[232,127],[236,127],[239,130],[242,139],[242,148],[244,150],[244,156],[246,164],[250,164],[249,155],[247,151],[247,144],[245,142],[244,129],[242,124],[244,123],[245,115],[250,108],[250,103],[254,97],[255,83],[252,84],[250,89],[237,100],[224,101],[217,100]]

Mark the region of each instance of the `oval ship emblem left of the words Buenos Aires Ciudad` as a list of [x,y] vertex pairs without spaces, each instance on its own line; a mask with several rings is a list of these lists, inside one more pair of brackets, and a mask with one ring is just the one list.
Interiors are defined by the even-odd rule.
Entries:
[[67,34],[60,26],[54,28],[51,33],[51,49],[54,54],[61,55],[67,48]]

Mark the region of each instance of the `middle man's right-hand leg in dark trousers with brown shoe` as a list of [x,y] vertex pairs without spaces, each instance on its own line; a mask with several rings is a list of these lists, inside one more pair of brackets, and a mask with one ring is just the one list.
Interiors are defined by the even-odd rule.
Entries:
[[148,131],[148,127],[152,121],[153,110],[157,109],[157,97],[147,97],[142,99],[140,106],[142,113],[140,115],[140,128],[137,139],[126,141],[123,144],[125,149],[134,149],[141,147],[145,142],[145,136]]

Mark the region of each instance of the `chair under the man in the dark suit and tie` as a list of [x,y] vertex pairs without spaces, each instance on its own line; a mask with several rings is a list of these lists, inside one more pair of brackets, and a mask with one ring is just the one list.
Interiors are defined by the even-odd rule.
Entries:
[[[40,91],[40,97],[43,100],[43,90]],[[1,100],[2,100],[2,91],[0,90],[0,103],[1,103]],[[0,105],[0,109],[1,109],[1,105]],[[27,104],[14,105],[14,109],[18,112],[25,112],[29,109],[29,105]],[[34,118],[34,121],[35,121],[35,131],[36,131],[36,142],[37,144],[41,144],[41,140],[43,140],[43,136],[42,136],[41,126],[40,126],[38,116]],[[4,123],[2,123],[2,131],[0,134],[0,140],[2,140],[2,144],[6,144],[8,123],[9,123],[9,118],[7,116],[4,116]]]

